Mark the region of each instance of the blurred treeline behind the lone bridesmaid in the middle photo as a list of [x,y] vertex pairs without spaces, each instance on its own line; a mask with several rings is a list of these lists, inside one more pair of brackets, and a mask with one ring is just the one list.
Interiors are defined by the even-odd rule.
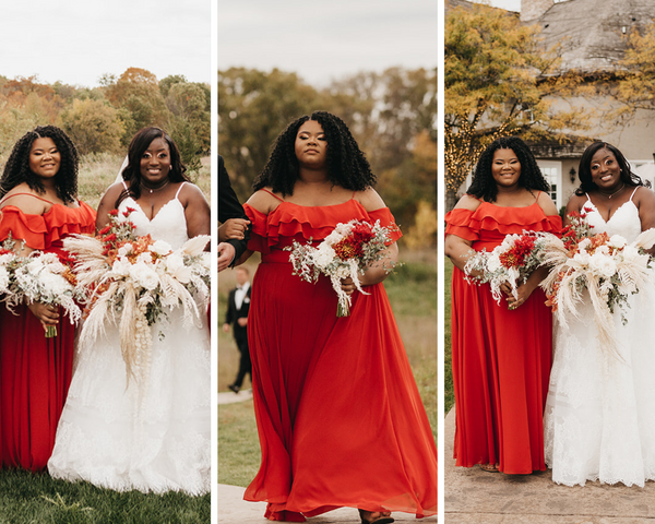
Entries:
[[241,199],[250,194],[275,138],[313,110],[333,112],[349,126],[378,177],[378,192],[398,224],[413,226],[403,227],[409,242],[433,242],[437,71],[359,72],[324,88],[276,69],[218,71],[218,152]]

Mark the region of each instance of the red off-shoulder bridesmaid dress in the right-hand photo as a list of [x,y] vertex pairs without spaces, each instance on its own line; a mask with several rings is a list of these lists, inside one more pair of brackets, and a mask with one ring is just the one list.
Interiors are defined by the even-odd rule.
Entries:
[[[445,234],[493,250],[523,230],[559,233],[559,216],[535,202],[502,207],[483,202],[474,212],[445,215]],[[543,415],[552,355],[552,318],[540,288],[517,309],[498,305],[488,284],[453,270],[452,358],[457,466],[499,464],[509,474],[545,471]]]

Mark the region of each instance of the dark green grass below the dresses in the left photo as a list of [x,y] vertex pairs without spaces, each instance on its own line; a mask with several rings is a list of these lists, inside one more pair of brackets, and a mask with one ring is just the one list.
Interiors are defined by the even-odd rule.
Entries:
[[0,472],[0,524],[207,523],[211,496],[119,493],[47,474]]

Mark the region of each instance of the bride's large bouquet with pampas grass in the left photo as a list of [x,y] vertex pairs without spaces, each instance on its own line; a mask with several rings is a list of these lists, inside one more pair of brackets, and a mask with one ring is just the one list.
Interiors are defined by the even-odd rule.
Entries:
[[69,237],[64,247],[74,253],[78,287],[86,293],[81,341],[90,343],[108,322],[117,324],[128,379],[143,383],[152,352],[150,326],[177,307],[182,308],[184,325],[196,324],[205,313],[210,253],[204,248],[210,237],[191,238],[174,250],[150,235],[136,237],[128,219],[132,211],[112,211],[110,224],[97,237]]

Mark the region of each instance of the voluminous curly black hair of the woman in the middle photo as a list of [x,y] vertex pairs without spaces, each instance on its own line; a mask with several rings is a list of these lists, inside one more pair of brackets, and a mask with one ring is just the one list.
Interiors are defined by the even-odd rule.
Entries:
[[308,120],[319,122],[325,133],[330,181],[353,191],[373,187],[376,176],[371,172],[371,166],[353,138],[348,126],[330,112],[314,111],[311,116],[305,115],[294,120],[277,136],[269,162],[252,183],[253,189],[258,191],[271,187],[274,192],[283,195],[294,194],[294,184],[300,171],[295,150],[296,136],[300,127]]

